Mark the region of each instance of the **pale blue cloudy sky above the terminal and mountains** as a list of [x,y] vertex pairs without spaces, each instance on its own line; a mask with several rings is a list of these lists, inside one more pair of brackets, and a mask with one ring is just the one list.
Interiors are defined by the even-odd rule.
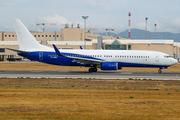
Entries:
[[[60,32],[64,24],[84,28],[82,16],[89,16],[86,28],[92,33],[131,28],[180,33],[180,0],[0,0],[0,31],[14,32],[13,20],[20,19],[31,31]],[[36,24],[45,23],[45,26]],[[51,24],[56,25],[51,25]]]

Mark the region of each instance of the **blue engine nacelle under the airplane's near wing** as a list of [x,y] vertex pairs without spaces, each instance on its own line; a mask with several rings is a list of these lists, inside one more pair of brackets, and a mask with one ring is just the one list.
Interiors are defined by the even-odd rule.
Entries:
[[118,63],[117,62],[102,62],[101,70],[117,70]]

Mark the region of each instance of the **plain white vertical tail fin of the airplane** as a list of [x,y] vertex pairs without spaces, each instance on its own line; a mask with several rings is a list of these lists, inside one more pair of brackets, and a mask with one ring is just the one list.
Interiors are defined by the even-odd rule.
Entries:
[[36,41],[36,39],[19,19],[14,20],[14,26],[20,50],[33,51],[46,48],[46,46],[43,46]]

